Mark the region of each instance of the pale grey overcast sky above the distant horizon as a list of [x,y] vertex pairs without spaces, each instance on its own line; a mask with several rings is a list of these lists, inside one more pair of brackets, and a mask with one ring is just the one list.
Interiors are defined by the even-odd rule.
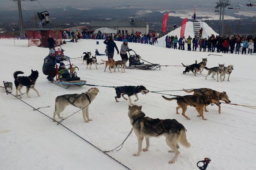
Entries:
[[[241,0],[240,0],[241,1]],[[17,2],[17,1],[15,1]],[[0,10],[17,10],[17,5],[12,0],[0,0]],[[111,8],[118,6],[138,6],[140,8],[158,10],[193,10],[194,5],[201,11],[210,11],[216,5],[217,0],[38,0],[34,2],[21,2],[23,9],[43,10],[56,7],[72,6],[76,8]],[[238,1],[233,1],[237,5]],[[40,6],[40,4],[42,7]],[[246,5],[246,1],[239,5]]]

